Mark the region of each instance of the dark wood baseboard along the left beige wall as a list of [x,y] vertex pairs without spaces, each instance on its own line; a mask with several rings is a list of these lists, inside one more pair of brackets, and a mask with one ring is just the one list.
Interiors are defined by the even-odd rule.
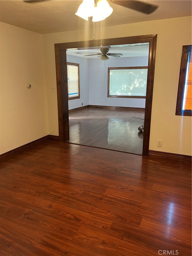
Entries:
[[20,146],[16,149],[12,149],[8,152],[5,152],[5,153],[0,155],[0,162],[6,160],[9,157],[12,157],[12,156],[17,155],[19,153],[22,153],[22,152],[24,152],[28,149],[31,149],[31,148],[37,146],[38,144],[41,144],[41,143],[45,142],[46,140],[49,140],[49,135],[46,135],[46,136],[44,136],[40,139],[34,140],[32,142],[29,142],[29,143],[27,143],[25,145],[22,145],[22,146]]

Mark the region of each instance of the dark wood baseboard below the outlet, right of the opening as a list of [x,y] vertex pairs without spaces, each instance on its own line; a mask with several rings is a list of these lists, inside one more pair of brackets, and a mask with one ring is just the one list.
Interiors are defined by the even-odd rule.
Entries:
[[190,155],[179,155],[174,153],[167,153],[155,150],[149,150],[149,157],[168,159],[173,161],[180,161],[185,163],[192,163],[192,157]]

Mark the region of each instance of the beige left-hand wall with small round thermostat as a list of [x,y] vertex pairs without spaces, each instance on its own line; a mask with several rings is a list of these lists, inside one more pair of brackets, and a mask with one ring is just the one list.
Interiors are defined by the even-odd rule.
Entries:
[[2,154],[49,131],[42,35],[5,23],[0,28]]

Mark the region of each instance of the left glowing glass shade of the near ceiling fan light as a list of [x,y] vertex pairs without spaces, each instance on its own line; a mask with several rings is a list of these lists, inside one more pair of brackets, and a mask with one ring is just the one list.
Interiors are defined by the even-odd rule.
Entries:
[[76,15],[84,20],[88,20],[94,13],[95,2],[94,0],[83,0],[79,5]]

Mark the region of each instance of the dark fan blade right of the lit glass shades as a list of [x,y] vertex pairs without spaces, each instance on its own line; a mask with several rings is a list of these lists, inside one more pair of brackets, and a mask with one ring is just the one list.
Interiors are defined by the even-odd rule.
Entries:
[[110,0],[113,4],[121,5],[130,9],[133,9],[135,11],[140,11],[145,14],[151,14],[153,13],[157,8],[158,5],[152,5],[146,2],[141,2],[137,0]]

